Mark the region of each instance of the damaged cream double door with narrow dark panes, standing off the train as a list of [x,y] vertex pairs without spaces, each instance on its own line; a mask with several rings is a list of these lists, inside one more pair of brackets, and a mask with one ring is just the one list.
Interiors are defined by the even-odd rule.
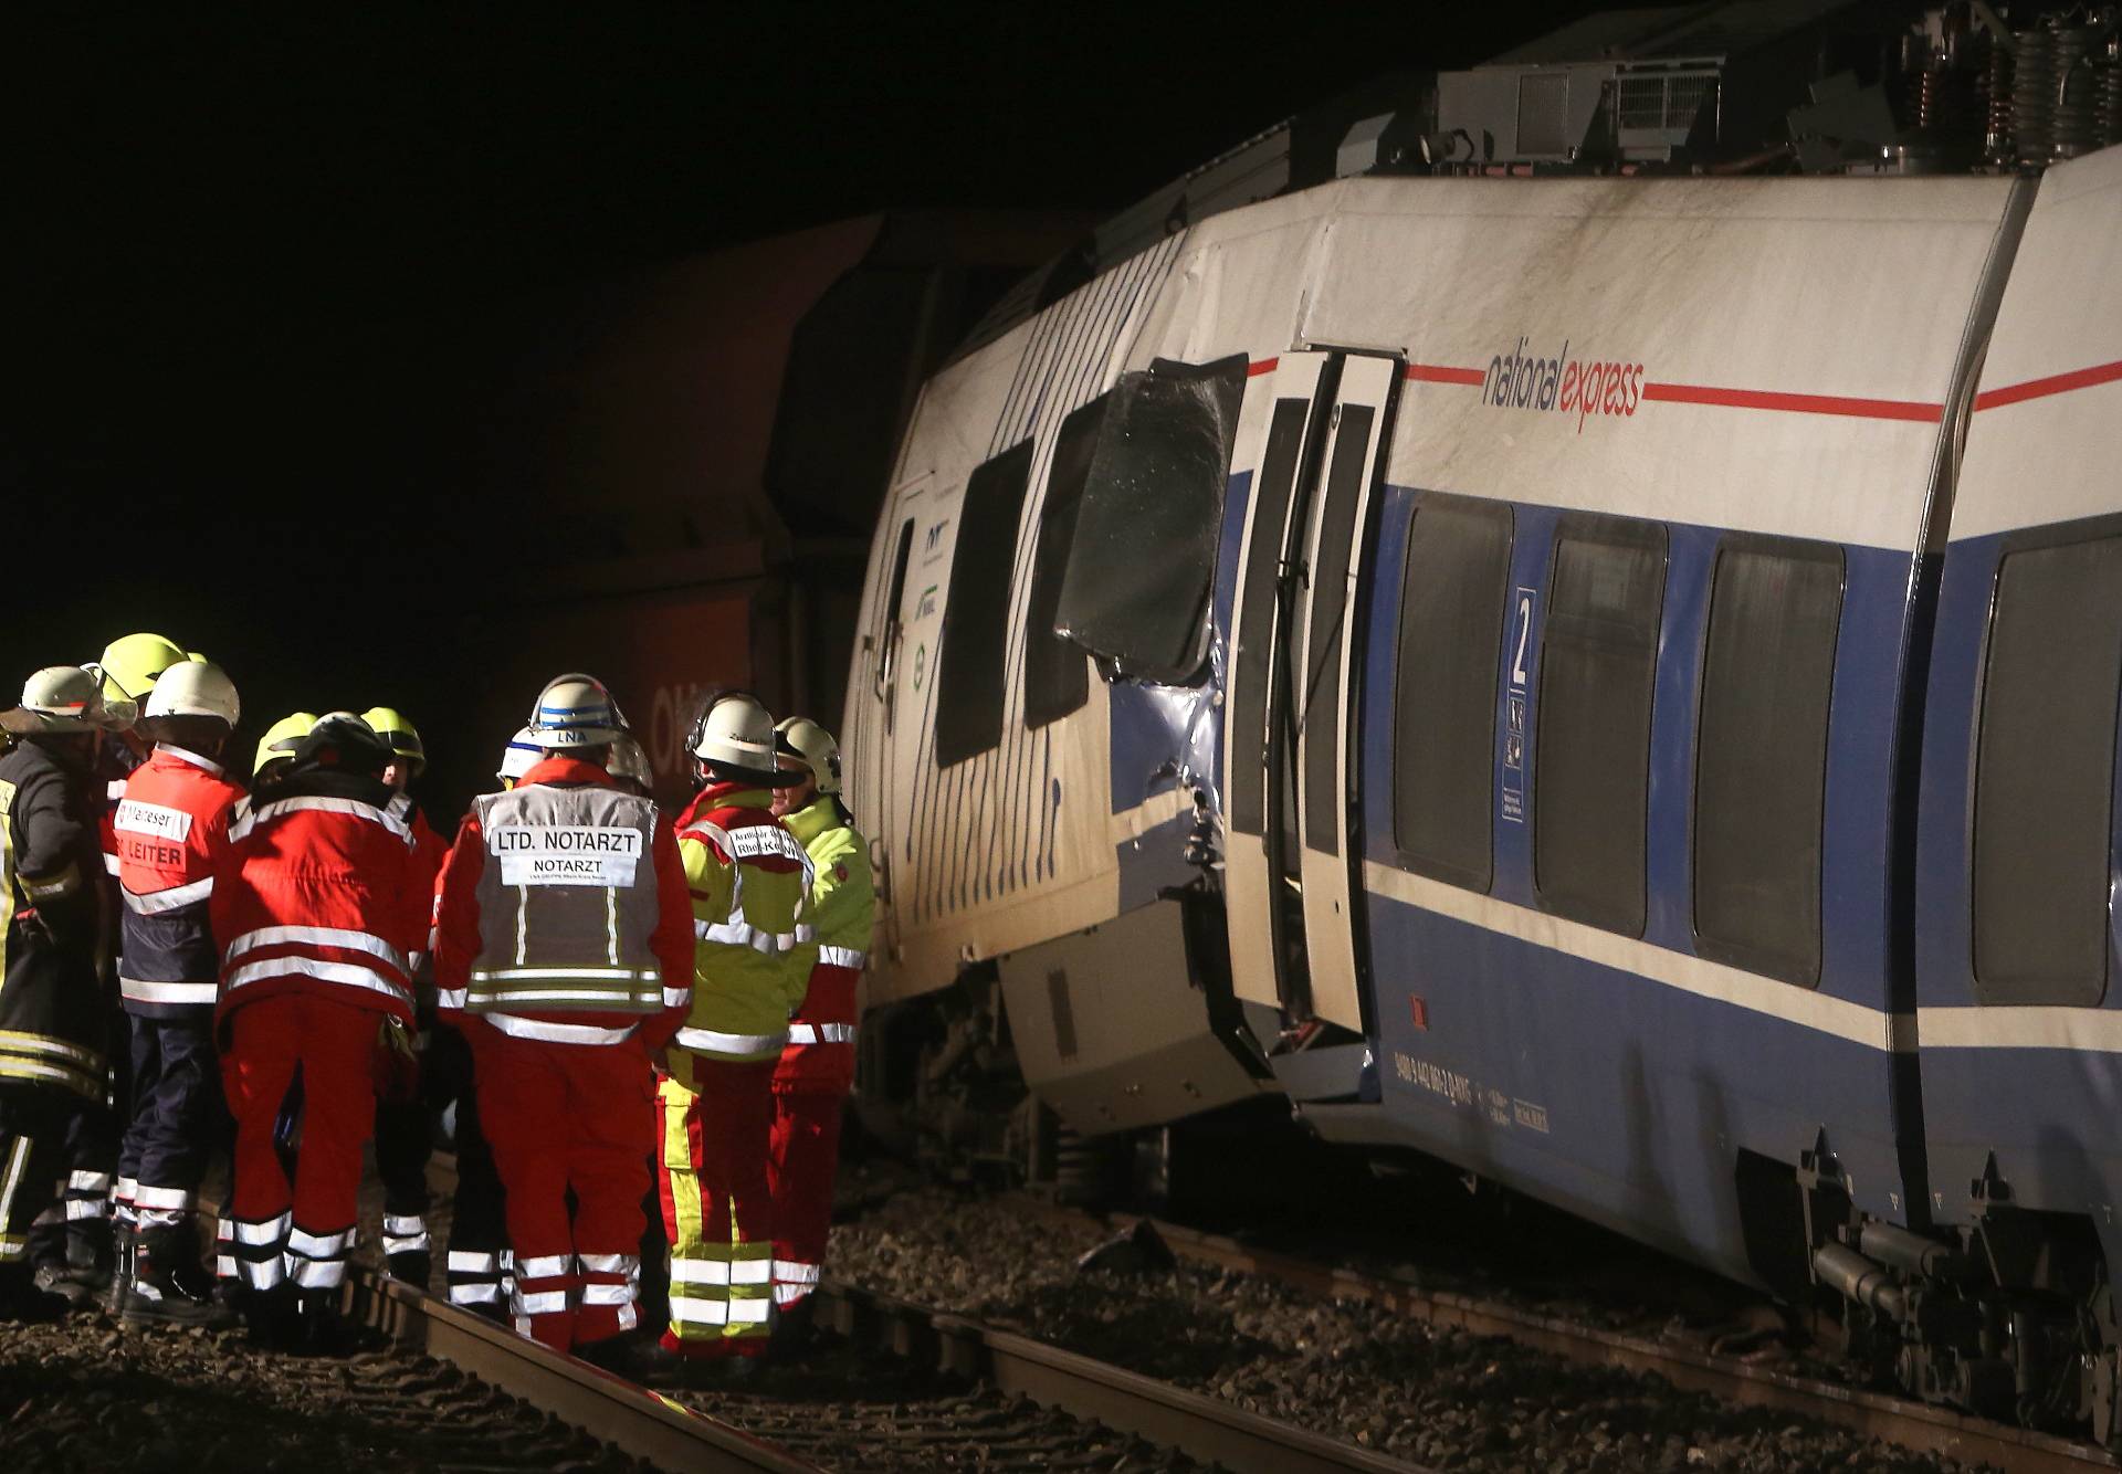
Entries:
[[1256,458],[1224,721],[1233,986],[1292,1024],[1364,1029],[1356,581],[1398,358],[1275,361]]

